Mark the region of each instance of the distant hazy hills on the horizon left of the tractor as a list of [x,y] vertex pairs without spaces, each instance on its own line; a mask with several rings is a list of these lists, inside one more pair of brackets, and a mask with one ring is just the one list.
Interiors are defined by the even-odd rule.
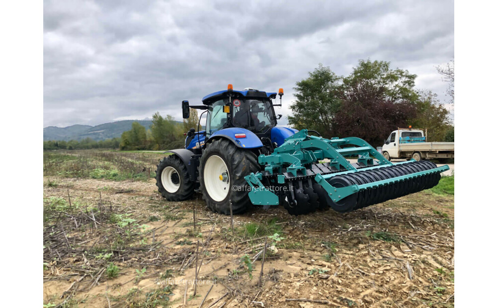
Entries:
[[[114,137],[121,137],[124,131],[131,129],[131,124],[138,122],[149,129],[152,125],[150,120],[123,120],[112,123],[100,124],[97,126],[71,125],[68,127],[49,126],[43,129],[43,140],[82,140],[91,138],[93,140],[105,140]],[[178,122],[182,123],[182,122]]]

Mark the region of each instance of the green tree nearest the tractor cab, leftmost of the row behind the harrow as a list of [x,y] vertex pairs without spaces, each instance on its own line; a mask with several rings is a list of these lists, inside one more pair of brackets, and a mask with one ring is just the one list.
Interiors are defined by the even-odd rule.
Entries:
[[293,116],[288,123],[296,129],[313,129],[326,137],[333,132],[334,117],[340,107],[340,77],[330,67],[319,65],[309,77],[296,83],[295,102],[290,106]]

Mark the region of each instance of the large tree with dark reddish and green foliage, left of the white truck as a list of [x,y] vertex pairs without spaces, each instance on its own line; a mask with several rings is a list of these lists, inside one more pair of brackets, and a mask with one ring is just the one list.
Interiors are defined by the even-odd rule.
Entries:
[[359,137],[373,146],[383,144],[391,131],[415,117],[415,78],[407,70],[391,69],[389,62],[360,60],[343,78],[336,135]]

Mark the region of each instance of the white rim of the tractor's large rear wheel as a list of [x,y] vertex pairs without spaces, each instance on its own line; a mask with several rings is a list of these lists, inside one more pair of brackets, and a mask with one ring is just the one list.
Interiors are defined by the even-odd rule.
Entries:
[[223,201],[230,191],[230,173],[223,158],[212,155],[204,166],[204,184],[212,200]]

